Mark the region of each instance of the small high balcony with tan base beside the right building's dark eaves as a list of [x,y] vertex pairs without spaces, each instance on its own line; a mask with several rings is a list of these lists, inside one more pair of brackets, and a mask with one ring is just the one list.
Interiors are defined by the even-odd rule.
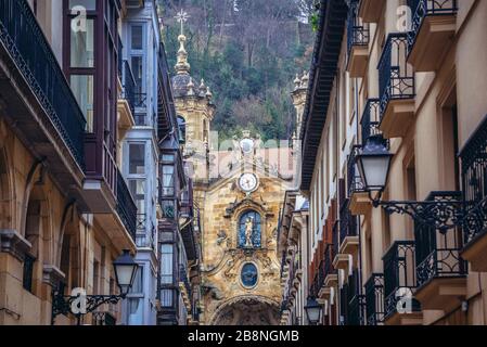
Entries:
[[358,16],[358,0],[351,0],[347,20],[347,70],[350,77],[363,77],[369,61],[369,24]]

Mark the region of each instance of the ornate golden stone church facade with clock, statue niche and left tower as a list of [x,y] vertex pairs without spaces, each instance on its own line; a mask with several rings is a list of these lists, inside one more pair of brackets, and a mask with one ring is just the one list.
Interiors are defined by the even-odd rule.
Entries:
[[202,221],[201,323],[279,324],[282,255],[277,232],[285,191],[293,187],[293,151],[265,147],[248,131],[221,150],[210,132],[210,89],[191,77],[182,34],[179,42],[172,88]]

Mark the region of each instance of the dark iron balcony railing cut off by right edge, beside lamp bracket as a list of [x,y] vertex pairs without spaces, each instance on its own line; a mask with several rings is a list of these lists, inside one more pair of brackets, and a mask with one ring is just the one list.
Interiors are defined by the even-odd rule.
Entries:
[[487,233],[487,116],[460,153],[465,200],[463,226],[467,246]]

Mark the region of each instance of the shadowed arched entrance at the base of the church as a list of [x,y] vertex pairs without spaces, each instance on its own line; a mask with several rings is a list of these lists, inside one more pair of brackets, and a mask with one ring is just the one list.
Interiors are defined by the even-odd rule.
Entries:
[[278,303],[261,296],[240,296],[222,304],[212,325],[279,325]]

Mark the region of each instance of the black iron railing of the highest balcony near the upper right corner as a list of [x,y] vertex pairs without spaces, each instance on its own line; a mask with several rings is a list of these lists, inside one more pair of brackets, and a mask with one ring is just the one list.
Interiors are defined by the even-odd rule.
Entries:
[[411,52],[420,33],[423,21],[430,15],[452,15],[458,12],[457,0],[408,0],[413,13],[411,30],[408,31],[408,48]]

